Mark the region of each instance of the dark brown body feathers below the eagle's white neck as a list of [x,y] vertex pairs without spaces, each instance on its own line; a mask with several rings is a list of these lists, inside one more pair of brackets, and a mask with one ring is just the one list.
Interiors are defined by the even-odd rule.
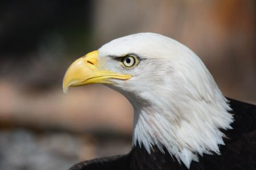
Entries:
[[[192,162],[190,169],[232,169],[249,170],[256,169],[256,106],[241,101],[230,100],[233,109],[234,122],[232,130],[223,131],[225,146],[220,146],[221,155],[200,156],[199,162]],[[167,150],[163,154],[155,146],[151,154],[145,148],[133,147],[126,155],[112,156],[108,158],[93,159],[74,165],[70,170],[92,169],[187,169],[173,159]]]

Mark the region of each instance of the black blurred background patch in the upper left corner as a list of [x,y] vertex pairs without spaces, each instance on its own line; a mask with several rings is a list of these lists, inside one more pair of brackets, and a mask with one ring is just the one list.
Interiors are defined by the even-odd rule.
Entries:
[[54,35],[69,43],[68,50],[81,50],[92,30],[92,1],[1,1],[0,6],[2,57],[26,56]]

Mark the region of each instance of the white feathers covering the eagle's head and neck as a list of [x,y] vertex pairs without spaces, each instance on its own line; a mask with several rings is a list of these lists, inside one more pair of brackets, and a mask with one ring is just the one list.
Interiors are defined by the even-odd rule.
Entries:
[[[198,154],[216,152],[225,145],[219,129],[231,129],[232,114],[204,63],[187,46],[156,33],[138,33],[110,41],[99,57],[137,54],[143,60],[132,70],[106,67],[132,76],[115,80],[134,107],[133,145],[148,153],[156,145],[188,168]],[[105,62],[108,63],[108,62]]]

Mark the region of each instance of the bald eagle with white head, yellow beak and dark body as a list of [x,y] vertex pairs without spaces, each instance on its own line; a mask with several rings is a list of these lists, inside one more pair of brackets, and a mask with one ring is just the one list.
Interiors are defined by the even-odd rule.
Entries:
[[256,169],[256,106],[227,99],[187,46],[156,33],[115,39],[69,66],[63,90],[104,83],[134,108],[129,154],[71,169]]

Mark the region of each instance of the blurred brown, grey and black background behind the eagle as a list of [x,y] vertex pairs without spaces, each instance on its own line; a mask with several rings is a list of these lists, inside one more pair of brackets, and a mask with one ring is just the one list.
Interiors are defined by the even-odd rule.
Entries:
[[225,96],[256,104],[254,0],[0,1],[0,169],[68,169],[130,150],[133,108],[67,67],[117,37],[156,32],[191,48]]

